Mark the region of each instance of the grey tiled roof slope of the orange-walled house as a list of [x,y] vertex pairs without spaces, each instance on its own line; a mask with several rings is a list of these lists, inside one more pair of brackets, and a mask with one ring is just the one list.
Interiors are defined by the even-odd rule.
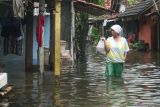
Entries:
[[119,17],[136,16],[142,14],[145,10],[149,9],[153,5],[153,0],[146,0],[136,4],[133,7],[129,7],[119,15]]

